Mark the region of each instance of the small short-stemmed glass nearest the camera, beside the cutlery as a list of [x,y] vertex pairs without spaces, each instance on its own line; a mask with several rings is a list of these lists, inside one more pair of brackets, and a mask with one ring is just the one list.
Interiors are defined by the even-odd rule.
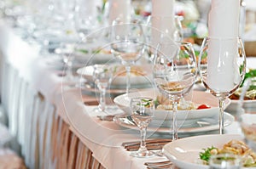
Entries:
[[154,116],[154,99],[138,97],[131,99],[130,102],[131,118],[137,124],[141,132],[141,144],[137,152],[131,154],[135,157],[149,157],[154,155],[146,147],[147,127]]

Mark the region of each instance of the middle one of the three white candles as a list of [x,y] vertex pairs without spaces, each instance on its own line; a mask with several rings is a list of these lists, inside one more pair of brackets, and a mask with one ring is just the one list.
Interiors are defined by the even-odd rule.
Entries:
[[151,26],[153,48],[156,48],[162,37],[173,39],[176,30],[174,0],[152,0]]

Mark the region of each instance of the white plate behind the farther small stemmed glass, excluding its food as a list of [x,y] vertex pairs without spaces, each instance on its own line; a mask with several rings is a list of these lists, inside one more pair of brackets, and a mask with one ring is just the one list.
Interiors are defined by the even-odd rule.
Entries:
[[[123,66],[123,65],[117,65],[117,66]],[[136,76],[131,73],[131,85],[132,87],[144,87],[152,84],[152,71],[151,71],[151,65],[135,65],[140,70],[142,70],[142,76]],[[87,79],[89,82],[94,82],[93,80],[93,65],[85,66],[82,68],[79,68],[77,70],[77,73],[80,76],[84,76],[85,79]],[[145,76],[144,76],[145,75]],[[126,76],[115,76],[113,78],[113,82],[111,82],[110,85],[111,88],[125,88],[126,87]]]

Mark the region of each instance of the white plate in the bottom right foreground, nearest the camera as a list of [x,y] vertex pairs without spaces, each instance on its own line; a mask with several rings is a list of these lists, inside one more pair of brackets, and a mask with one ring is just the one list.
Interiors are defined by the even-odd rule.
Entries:
[[[190,138],[181,138],[164,146],[164,154],[181,169],[208,169],[209,166],[199,163],[199,154],[208,147],[221,148],[232,139],[242,140],[240,135],[201,135]],[[250,167],[247,169],[255,169]]]

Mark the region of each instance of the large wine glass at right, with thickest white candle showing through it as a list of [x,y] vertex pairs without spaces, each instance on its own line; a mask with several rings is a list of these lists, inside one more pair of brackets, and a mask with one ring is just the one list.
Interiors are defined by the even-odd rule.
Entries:
[[204,86],[218,98],[219,133],[224,133],[224,99],[241,85],[246,71],[246,54],[239,37],[205,37],[198,59]]

